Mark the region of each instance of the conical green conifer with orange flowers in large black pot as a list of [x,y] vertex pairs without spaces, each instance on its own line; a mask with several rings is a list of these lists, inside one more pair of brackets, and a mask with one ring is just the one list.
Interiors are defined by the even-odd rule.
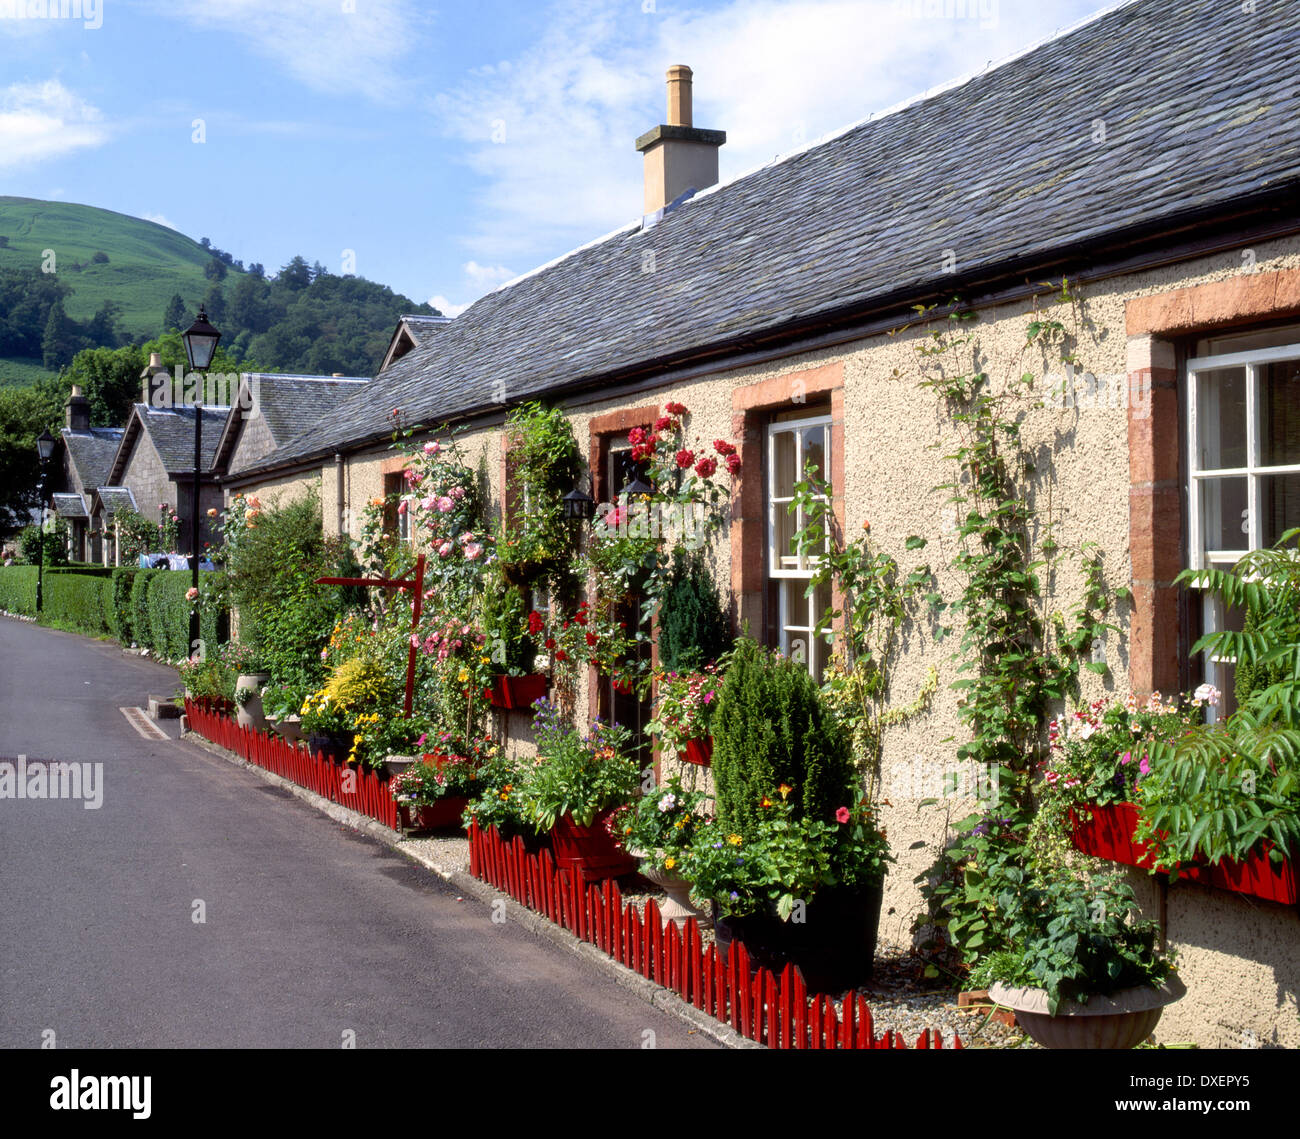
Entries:
[[714,719],[716,822],[686,859],[719,948],[798,965],[810,987],[871,975],[889,852],[850,745],[807,668],[741,641]]

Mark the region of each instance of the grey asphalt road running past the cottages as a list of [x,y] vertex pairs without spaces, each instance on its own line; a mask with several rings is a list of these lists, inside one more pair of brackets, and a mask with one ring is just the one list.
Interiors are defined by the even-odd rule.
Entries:
[[0,1045],[714,1047],[255,774],[142,739],[118,710],[174,689],[172,670],[113,644],[0,618],[0,758],[103,765],[98,809],[0,797]]

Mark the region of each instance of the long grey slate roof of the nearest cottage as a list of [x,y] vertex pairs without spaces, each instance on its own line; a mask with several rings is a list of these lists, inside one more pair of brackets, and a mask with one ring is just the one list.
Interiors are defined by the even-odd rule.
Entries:
[[502,286],[257,469],[1300,195],[1297,74],[1288,0],[1134,0]]

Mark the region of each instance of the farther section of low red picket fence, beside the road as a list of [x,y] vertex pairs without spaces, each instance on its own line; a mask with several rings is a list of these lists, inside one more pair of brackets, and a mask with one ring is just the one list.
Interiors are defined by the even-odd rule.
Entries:
[[[228,748],[250,763],[315,791],[318,796],[358,811],[367,818],[396,830],[398,809],[389,794],[389,780],[374,771],[358,771],[313,755],[306,746],[290,744],[270,732],[240,728],[222,710],[208,701],[186,700],[185,714],[190,727],[200,736]],[[346,776],[346,779],[344,779]]]

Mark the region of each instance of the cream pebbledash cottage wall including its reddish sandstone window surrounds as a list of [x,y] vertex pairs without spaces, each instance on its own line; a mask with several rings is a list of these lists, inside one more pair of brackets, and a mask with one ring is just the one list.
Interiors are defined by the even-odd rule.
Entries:
[[[1071,276],[1071,281],[1074,281]],[[1251,329],[1300,319],[1300,239],[1260,243],[1249,256],[1228,251],[1161,269],[1089,281],[1079,273],[1082,320],[1075,326],[1067,306],[1040,311],[1076,334],[1078,373],[1104,382],[1098,394],[1074,407],[1028,410],[1022,430],[1039,449],[1040,477],[1034,504],[1056,521],[1066,550],[1095,542],[1104,558],[1110,589],[1128,586],[1131,603],[1113,616],[1122,638],[1105,645],[1110,675],[1086,674],[1083,696],[1126,696],[1130,690],[1165,694],[1188,676],[1187,645],[1180,641],[1179,598],[1173,579],[1184,567],[1186,489],[1179,475],[1184,438],[1179,395],[1179,352],[1212,330]],[[970,326],[979,367],[994,384],[1032,372],[1063,374],[1063,367],[1026,346],[1030,303],[979,309]],[[870,521],[871,536],[906,568],[928,563],[939,588],[953,598],[961,583],[946,570],[956,553],[956,514],[946,493],[936,490],[953,475],[944,459],[954,441],[940,398],[918,386],[916,348],[930,333],[924,324],[902,326],[833,350],[790,352],[762,367],[718,369],[688,381],[642,389],[625,398],[569,407],[573,430],[598,459],[602,447],[625,437],[630,426],[649,425],[668,399],[692,412],[690,430],[707,446],[715,438],[741,445],[745,475],[732,502],[729,542],[715,549],[719,581],[729,583],[737,628],[763,628],[766,484],[762,428],[774,415],[826,407],[832,416],[832,475],[836,507],[849,536]],[[1078,386],[1078,384],[1076,384]],[[1049,390],[1049,389],[1048,389]],[[436,419],[426,416],[426,420]],[[500,502],[503,452],[500,417],[472,424],[462,437],[471,463],[485,458],[493,499]],[[598,465],[598,464],[593,464]],[[373,449],[326,463],[259,488],[264,498],[296,494],[320,478],[326,530],[356,534],[365,503],[385,493],[385,476],[402,469],[391,451]],[[343,478],[343,508],[337,510]],[[598,485],[599,489],[599,485]],[[599,498],[599,497],[598,497]],[[909,553],[911,534],[927,538]],[[1062,559],[1049,589],[1049,607],[1062,612],[1080,597],[1076,562]],[[970,797],[922,806],[941,797],[944,772],[956,770],[954,740],[963,737],[957,679],[952,661],[956,637],[936,644],[922,624],[909,632],[897,666],[893,701],[910,703],[926,684],[927,670],[940,674],[931,707],[890,729],[885,742],[881,793],[884,820],[897,863],[887,880],[881,936],[906,941],[923,904],[914,879],[932,863],[950,822],[978,807]],[[589,692],[578,707],[594,707]],[[512,745],[528,749],[526,718],[504,726]],[[970,788],[967,780],[963,787]],[[914,844],[924,844],[914,848]],[[1161,919],[1190,996],[1166,1010],[1162,1041],[1205,1047],[1300,1047],[1300,915],[1266,902],[1134,871],[1147,911]]]

